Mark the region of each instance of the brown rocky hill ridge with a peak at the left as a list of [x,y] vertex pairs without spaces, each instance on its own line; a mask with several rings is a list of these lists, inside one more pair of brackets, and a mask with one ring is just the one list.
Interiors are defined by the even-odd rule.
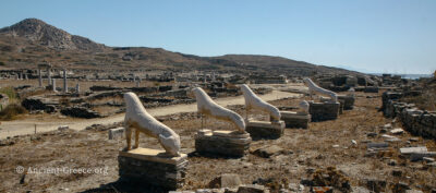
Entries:
[[[312,75],[350,73],[343,69],[315,65],[281,57],[226,55],[198,57],[161,48],[107,47],[71,35],[37,19],[26,19],[0,28],[0,68],[33,69],[48,61],[74,69],[216,70],[240,73]],[[353,73],[353,72],[351,72]]]

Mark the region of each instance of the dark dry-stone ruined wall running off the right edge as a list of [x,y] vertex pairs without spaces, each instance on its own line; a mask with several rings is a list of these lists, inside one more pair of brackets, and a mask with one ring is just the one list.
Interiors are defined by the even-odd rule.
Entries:
[[413,104],[398,101],[401,93],[383,94],[383,113],[399,119],[409,132],[436,140],[436,112],[417,109]]

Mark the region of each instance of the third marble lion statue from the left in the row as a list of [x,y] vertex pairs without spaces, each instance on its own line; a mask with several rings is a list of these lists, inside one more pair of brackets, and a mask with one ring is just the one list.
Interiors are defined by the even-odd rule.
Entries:
[[259,98],[256,94],[253,93],[252,89],[245,84],[241,85],[242,94],[244,95],[245,99],[245,109],[258,109],[264,112],[269,113],[269,117],[275,120],[279,121],[280,120],[280,111],[277,109],[275,106],[264,101],[262,98]]

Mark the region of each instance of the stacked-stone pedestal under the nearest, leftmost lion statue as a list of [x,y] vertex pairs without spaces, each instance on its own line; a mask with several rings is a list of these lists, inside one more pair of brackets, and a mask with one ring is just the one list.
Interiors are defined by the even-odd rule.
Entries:
[[120,181],[175,190],[183,186],[187,156],[168,157],[165,150],[140,147],[120,152],[118,164]]

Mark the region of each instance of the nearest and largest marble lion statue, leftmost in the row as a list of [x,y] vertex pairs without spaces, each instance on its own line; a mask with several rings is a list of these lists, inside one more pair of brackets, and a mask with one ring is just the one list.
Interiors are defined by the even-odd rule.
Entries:
[[150,116],[144,108],[136,94],[129,92],[124,94],[126,106],[124,126],[125,138],[128,141],[126,150],[131,149],[131,138],[133,129],[135,130],[135,146],[140,145],[140,132],[148,136],[158,138],[160,145],[165,148],[166,154],[170,156],[180,155],[180,136],[167,125],[162,124]]

